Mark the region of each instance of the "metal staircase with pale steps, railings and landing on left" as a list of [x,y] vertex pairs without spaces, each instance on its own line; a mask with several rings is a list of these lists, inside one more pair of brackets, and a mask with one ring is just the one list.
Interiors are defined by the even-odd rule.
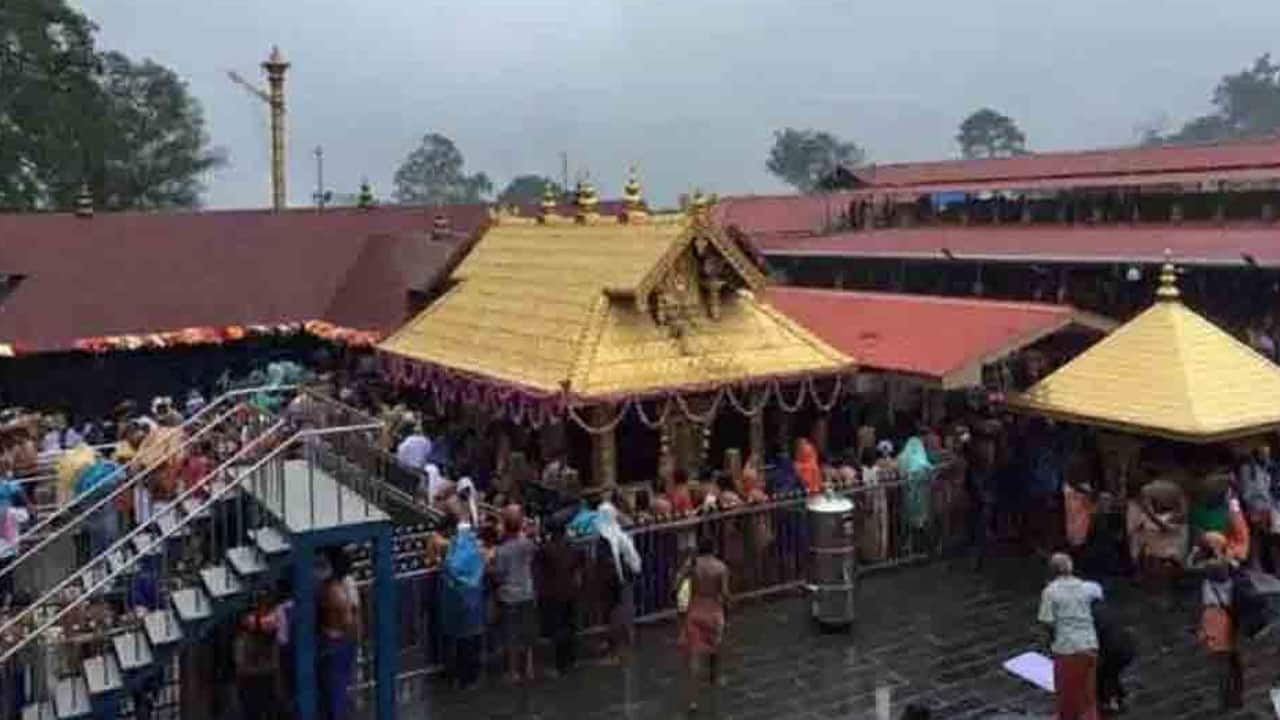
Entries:
[[[205,479],[0,624],[0,667],[36,667],[22,720],[115,716],[183,647],[271,588],[296,538],[388,521],[379,469],[365,461],[376,421],[310,393],[264,416]],[[50,666],[68,624],[102,606],[118,621],[76,662]]]

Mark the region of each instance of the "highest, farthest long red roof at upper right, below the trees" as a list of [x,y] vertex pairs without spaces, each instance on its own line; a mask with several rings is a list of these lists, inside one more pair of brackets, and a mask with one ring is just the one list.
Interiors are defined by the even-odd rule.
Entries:
[[891,163],[858,168],[854,174],[878,188],[951,183],[1018,182],[1032,179],[1146,176],[1156,173],[1212,173],[1270,168],[1280,174],[1280,140],[1115,147],[1074,152],[1032,152],[1016,158]]

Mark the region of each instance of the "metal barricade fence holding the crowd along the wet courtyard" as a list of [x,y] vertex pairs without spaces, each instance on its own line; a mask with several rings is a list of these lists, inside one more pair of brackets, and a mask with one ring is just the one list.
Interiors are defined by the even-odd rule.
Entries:
[[[941,465],[925,479],[892,477],[876,486],[841,486],[835,492],[854,502],[854,543],[859,573],[901,566],[937,557],[963,546],[969,537],[968,501],[963,468]],[[717,555],[728,565],[735,600],[794,592],[805,583],[809,564],[809,524],[806,497],[800,493],[776,496],[767,502],[741,505],[731,510],[694,514],[680,519],[644,521],[628,527],[643,568],[636,577],[636,621],[669,618],[676,609],[676,577],[694,555],[698,538],[710,536]],[[397,536],[397,639],[399,678],[407,682],[430,675],[444,661],[444,638],[435,615],[442,592],[440,570],[429,562],[431,530],[426,527],[402,528]],[[584,556],[585,574],[577,603],[579,633],[593,635],[607,624],[600,573],[614,571],[607,546],[594,537],[572,538]],[[357,562],[357,569],[362,564]],[[364,626],[372,626],[371,579],[358,582],[362,592]],[[497,606],[486,593],[490,629]],[[485,635],[485,655],[500,650],[497,633]],[[360,650],[361,671],[357,687],[367,688],[372,678],[372,646],[365,638]],[[408,685],[401,693],[412,693]]]

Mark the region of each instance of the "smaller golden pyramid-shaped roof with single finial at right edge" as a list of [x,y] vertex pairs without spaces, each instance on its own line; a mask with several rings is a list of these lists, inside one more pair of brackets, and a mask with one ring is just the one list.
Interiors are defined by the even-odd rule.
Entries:
[[1172,265],[1161,278],[1155,305],[1009,405],[1198,443],[1280,427],[1280,366],[1183,305]]

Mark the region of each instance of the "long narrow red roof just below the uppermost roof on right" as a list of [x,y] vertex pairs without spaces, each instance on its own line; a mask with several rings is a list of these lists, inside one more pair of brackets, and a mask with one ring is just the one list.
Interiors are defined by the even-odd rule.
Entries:
[[765,256],[957,259],[1020,263],[1160,263],[1165,250],[1187,265],[1280,266],[1280,225],[1001,225],[919,227],[822,237],[760,237]]

